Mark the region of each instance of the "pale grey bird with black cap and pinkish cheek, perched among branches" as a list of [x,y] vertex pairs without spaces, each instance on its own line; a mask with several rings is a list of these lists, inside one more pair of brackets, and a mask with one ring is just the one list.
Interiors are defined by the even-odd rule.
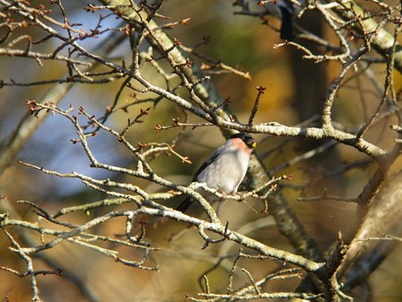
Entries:
[[[249,167],[249,156],[257,143],[247,133],[233,134],[218,147],[194,174],[193,182],[204,182],[223,194],[237,192]],[[188,197],[176,209],[185,212],[195,200]]]

